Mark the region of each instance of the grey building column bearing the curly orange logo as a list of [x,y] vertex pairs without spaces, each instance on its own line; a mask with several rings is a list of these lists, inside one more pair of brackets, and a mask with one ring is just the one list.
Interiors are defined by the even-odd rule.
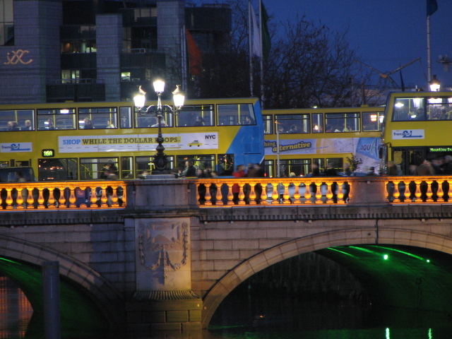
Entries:
[[16,0],[14,45],[0,47],[0,103],[45,102],[46,85],[61,78],[59,0]]

